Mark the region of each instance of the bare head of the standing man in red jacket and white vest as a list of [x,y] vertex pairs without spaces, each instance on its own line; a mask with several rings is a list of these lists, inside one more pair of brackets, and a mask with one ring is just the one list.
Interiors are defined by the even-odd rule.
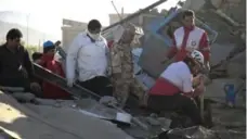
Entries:
[[192,10],[183,11],[182,22],[185,27],[192,27],[195,25],[195,13]]

